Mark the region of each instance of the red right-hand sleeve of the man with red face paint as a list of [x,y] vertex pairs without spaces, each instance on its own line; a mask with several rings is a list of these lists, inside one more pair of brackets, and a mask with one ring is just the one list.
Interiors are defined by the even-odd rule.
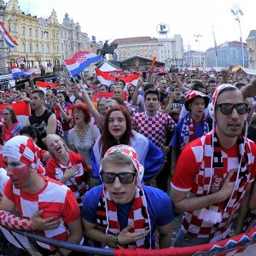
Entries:
[[67,223],[75,221],[80,217],[80,208],[76,198],[73,195],[73,192],[68,189],[65,204],[62,208],[63,220]]

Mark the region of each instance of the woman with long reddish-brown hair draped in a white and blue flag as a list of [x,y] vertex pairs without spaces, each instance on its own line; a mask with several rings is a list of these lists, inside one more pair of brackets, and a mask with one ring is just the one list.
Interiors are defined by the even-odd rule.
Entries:
[[145,168],[143,180],[147,181],[154,177],[164,163],[164,155],[148,138],[131,129],[131,117],[124,106],[113,106],[106,114],[99,137],[90,154],[90,163],[94,177],[101,181],[99,168],[101,160],[108,148],[115,145],[125,144],[135,148],[140,163]]

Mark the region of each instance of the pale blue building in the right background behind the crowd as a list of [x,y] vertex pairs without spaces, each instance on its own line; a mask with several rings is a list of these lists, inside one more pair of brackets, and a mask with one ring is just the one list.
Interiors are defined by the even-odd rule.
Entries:
[[[217,67],[242,66],[241,43],[238,41],[225,42],[217,47]],[[243,43],[244,63],[248,67],[247,44]],[[206,67],[216,67],[215,49],[209,48],[206,51]]]

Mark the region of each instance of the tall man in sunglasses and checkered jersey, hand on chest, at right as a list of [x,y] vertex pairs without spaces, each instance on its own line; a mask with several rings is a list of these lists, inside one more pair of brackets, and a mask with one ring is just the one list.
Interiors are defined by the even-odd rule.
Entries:
[[174,171],[172,202],[184,212],[176,247],[227,238],[247,211],[256,167],[255,144],[241,135],[247,105],[230,84],[215,90],[212,105],[215,129],[183,149]]

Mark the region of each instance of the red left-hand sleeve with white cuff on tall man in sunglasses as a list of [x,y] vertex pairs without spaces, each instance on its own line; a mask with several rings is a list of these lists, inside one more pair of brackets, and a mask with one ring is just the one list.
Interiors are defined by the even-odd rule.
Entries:
[[195,154],[192,150],[194,142],[189,143],[178,157],[171,183],[173,189],[179,191],[190,191],[192,189],[195,175],[199,172],[201,166],[201,162],[196,161]]

